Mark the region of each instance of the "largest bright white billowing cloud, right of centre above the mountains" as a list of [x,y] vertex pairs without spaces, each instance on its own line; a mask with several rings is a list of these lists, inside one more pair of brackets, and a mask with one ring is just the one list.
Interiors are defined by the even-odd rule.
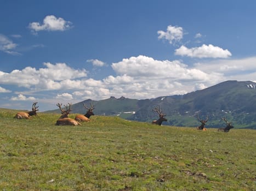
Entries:
[[189,69],[180,61],[158,61],[147,56],[125,58],[113,63],[117,74],[149,79],[204,79],[206,74],[197,69]]

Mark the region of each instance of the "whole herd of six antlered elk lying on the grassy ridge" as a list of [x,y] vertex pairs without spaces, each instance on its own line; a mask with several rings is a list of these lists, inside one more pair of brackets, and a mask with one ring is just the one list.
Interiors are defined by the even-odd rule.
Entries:
[[[27,112],[18,112],[14,118],[17,119],[31,119],[31,116],[37,116],[37,111],[38,111],[38,106],[37,106],[38,102],[34,102],[32,104],[32,110],[31,111],[27,111]],[[56,106],[58,106],[58,108],[60,109],[61,112],[61,116],[58,118],[58,120],[56,121],[56,125],[58,126],[81,126],[81,122],[89,122],[90,121],[90,116],[93,116],[93,110],[94,105],[92,103],[90,103],[90,107],[88,107],[86,104],[83,103],[84,108],[87,110],[86,114],[82,115],[82,114],[78,114],[76,115],[75,119],[70,118],[68,115],[71,112],[71,103],[68,103],[66,105],[64,105],[62,107],[62,103],[57,103]],[[161,108],[159,108],[158,106],[155,107],[154,109],[152,109],[152,111],[156,112],[159,116],[158,120],[154,120],[152,121],[152,124],[156,124],[158,126],[162,125],[162,122],[167,121],[167,119],[165,118],[165,114],[162,112]],[[206,123],[209,120],[209,117],[206,117],[206,120],[203,120],[202,118],[200,119],[199,116],[197,115],[197,120],[201,123],[200,126],[196,127],[196,129],[198,130],[203,130],[206,131]],[[226,117],[221,117],[221,120],[225,121],[226,123],[226,127],[225,128],[219,128],[218,132],[229,132],[230,129],[234,128],[234,126],[231,126],[231,122],[227,122]]]

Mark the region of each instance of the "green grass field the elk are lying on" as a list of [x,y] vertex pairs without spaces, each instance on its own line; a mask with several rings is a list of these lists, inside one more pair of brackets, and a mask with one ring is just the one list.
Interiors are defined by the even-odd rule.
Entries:
[[0,190],[256,190],[255,130],[14,115],[0,112]]

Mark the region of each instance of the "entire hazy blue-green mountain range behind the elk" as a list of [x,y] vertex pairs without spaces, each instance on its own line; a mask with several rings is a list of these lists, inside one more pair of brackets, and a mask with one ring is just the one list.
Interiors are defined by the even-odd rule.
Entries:
[[208,117],[206,127],[225,127],[221,117],[226,117],[235,128],[256,129],[256,83],[252,81],[225,81],[184,95],[154,99],[87,99],[72,104],[72,112],[85,114],[83,104],[93,104],[95,115],[117,115],[141,122],[157,120],[158,114],[152,109],[158,107],[168,120],[163,125],[168,126],[197,127],[201,124],[197,118],[205,120]]

